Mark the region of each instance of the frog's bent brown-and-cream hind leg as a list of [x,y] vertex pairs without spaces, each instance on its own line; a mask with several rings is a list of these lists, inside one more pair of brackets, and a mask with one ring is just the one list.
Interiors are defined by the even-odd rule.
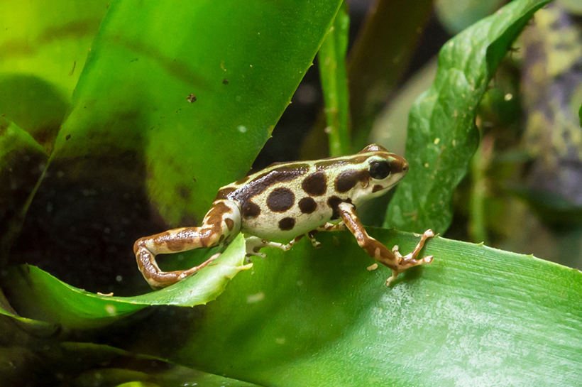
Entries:
[[241,229],[240,219],[238,207],[233,202],[216,200],[201,227],[182,227],[138,239],[133,244],[133,252],[143,277],[154,289],[166,288],[208,266],[220,254],[214,254],[199,266],[179,271],[161,271],[155,256],[229,242]]

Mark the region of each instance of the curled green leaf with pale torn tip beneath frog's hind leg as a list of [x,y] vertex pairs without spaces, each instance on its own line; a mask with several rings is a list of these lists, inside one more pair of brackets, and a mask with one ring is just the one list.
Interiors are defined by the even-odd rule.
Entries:
[[108,325],[148,305],[194,306],[215,300],[236,273],[249,268],[244,264],[245,254],[240,234],[212,265],[196,275],[135,297],[89,293],[35,266],[10,268],[3,286],[21,315],[58,323],[67,329],[89,329]]

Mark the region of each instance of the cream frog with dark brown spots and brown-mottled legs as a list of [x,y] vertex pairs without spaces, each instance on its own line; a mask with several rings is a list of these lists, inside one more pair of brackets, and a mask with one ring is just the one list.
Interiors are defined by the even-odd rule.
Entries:
[[[392,271],[390,285],[399,273],[431,263],[433,256],[418,259],[427,239],[427,229],[410,254],[402,256],[369,236],[356,208],[385,195],[405,177],[405,158],[371,144],[350,155],[312,161],[275,163],[264,170],[221,187],[199,227],[182,227],[138,239],[133,245],[138,268],[154,289],[174,285],[209,266],[214,254],[198,266],[181,271],[162,271],[158,254],[171,254],[213,246],[227,246],[243,233],[246,255],[265,257],[263,247],[288,251],[303,237],[321,246],[315,235],[322,231],[348,230],[366,253]],[[289,241],[287,244],[275,240]]]

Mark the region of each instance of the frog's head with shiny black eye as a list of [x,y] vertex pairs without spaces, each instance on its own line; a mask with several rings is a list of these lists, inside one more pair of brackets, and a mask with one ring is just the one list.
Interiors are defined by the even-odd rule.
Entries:
[[388,152],[380,145],[368,145],[354,157],[361,161],[360,184],[353,187],[350,195],[356,205],[384,195],[408,172],[408,163],[404,158]]

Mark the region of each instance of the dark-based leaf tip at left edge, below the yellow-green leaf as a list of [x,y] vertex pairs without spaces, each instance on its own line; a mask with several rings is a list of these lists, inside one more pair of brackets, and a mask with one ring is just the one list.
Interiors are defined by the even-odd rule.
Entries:
[[0,116],[0,267],[18,234],[48,155],[30,134]]

